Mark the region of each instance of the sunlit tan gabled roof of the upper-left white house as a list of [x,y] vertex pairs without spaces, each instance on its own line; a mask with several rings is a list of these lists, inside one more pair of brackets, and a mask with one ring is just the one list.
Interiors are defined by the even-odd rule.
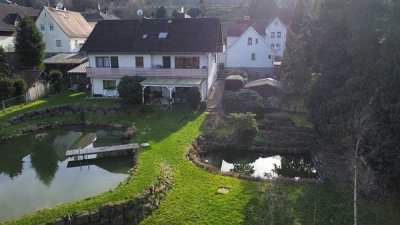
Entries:
[[54,19],[61,30],[71,38],[87,38],[90,35],[90,32],[92,32],[92,27],[78,12],[55,9],[46,6],[43,7],[43,10],[46,11]]

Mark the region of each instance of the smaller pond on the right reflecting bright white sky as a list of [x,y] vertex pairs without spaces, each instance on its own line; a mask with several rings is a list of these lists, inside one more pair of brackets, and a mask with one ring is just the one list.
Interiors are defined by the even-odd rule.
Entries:
[[309,155],[266,155],[251,152],[221,151],[205,156],[207,163],[222,172],[239,172],[262,178],[316,178]]

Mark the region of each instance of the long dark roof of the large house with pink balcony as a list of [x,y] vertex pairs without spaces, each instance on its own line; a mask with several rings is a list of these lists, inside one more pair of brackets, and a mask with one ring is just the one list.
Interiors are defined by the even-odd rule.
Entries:
[[[160,32],[168,33],[159,38]],[[81,51],[94,53],[220,52],[216,18],[99,21]]]

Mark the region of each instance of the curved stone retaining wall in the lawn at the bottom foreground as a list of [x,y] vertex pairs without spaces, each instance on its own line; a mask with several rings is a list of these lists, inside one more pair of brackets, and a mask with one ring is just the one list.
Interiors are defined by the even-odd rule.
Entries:
[[157,181],[142,194],[127,201],[103,205],[90,212],[71,214],[60,218],[49,225],[123,225],[139,224],[160,206],[161,201],[172,189],[173,173],[167,164],[161,165],[161,174]]

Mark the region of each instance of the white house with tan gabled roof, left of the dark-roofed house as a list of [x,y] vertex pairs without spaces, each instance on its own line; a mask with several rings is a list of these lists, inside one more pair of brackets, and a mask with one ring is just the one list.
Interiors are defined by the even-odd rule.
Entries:
[[46,53],[79,52],[92,32],[92,27],[78,12],[43,7],[36,20],[43,35]]

